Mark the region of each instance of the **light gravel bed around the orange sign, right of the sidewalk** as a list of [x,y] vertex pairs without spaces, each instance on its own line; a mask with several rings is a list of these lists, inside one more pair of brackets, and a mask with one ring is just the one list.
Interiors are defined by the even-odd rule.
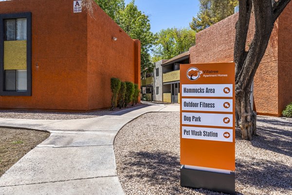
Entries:
[[[223,194],[180,186],[179,124],[179,113],[148,113],[119,132],[114,151],[127,195]],[[292,120],[259,116],[257,133],[246,141],[236,132],[237,195],[292,195]]]

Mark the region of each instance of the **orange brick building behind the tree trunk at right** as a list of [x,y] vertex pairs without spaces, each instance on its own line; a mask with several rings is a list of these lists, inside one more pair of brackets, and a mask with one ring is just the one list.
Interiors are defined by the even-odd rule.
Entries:
[[[292,2],[274,24],[266,53],[254,79],[254,102],[258,115],[281,116],[292,102]],[[191,47],[190,63],[233,61],[235,24],[238,14],[210,26],[196,34]],[[255,32],[252,17],[247,42]],[[248,44],[247,44],[248,46]]]

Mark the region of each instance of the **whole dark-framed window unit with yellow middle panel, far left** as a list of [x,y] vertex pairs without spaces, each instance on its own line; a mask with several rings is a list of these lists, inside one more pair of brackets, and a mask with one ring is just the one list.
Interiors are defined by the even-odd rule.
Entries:
[[0,96],[31,96],[31,13],[1,14]]

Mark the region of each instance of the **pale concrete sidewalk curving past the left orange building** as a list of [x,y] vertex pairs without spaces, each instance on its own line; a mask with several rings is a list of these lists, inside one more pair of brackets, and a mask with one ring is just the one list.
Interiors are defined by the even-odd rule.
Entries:
[[124,195],[114,138],[125,124],[148,112],[179,112],[179,106],[154,104],[74,120],[0,118],[0,127],[51,133],[0,177],[0,195]]

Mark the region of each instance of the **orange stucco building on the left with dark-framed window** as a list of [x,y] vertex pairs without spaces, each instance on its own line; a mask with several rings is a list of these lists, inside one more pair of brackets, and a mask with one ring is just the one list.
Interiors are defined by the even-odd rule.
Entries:
[[0,109],[89,111],[110,107],[112,77],[140,87],[140,41],[73,2],[0,2]]

